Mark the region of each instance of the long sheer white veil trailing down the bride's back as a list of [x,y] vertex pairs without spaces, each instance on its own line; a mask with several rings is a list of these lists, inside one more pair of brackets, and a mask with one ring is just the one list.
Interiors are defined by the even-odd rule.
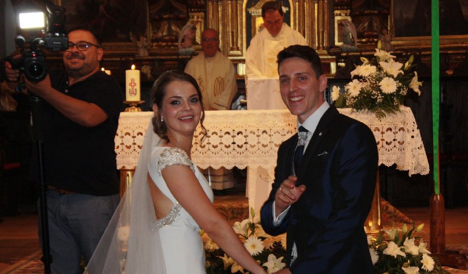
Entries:
[[[165,274],[156,215],[147,180],[151,148],[161,140],[152,123],[143,141],[138,164],[85,274]],[[155,167],[156,168],[156,167]]]

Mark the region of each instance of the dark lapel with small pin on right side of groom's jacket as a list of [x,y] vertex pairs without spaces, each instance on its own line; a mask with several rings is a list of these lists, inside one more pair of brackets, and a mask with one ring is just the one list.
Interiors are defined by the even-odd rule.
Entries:
[[308,166],[310,159],[317,154],[317,149],[320,146],[320,143],[327,136],[332,127],[332,121],[335,120],[335,117],[338,114],[339,112],[337,109],[334,106],[330,106],[320,119],[317,129],[315,129],[315,132],[307,145],[306,151],[304,152],[300,175],[303,175],[303,173],[308,170],[308,168],[304,168],[304,166]]

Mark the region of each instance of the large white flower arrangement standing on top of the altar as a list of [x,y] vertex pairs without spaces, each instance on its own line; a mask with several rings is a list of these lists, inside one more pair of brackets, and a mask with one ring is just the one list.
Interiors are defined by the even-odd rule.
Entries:
[[403,65],[396,62],[395,56],[381,49],[375,49],[377,64],[372,65],[367,58],[361,57],[362,65],[356,66],[351,71],[351,79],[345,86],[345,92],[340,93],[340,88],[333,86],[332,100],[337,108],[352,108],[353,110],[368,110],[377,118],[383,118],[388,113],[399,111],[400,105],[412,89],[421,95],[418,74],[410,72],[414,67],[414,56],[411,55]]

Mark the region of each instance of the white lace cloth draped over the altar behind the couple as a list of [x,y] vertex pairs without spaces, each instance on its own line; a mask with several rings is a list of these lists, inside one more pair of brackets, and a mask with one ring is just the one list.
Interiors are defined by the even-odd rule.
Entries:
[[[379,121],[371,113],[339,109],[372,130],[379,164],[396,163],[397,169],[408,170],[410,176],[428,174],[429,162],[413,113],[407,107],[400,110]],[[120,114],[115,138],[118,169],[135,168],[152,116],[152,112]],[[288,110],[206,111],[205,116],[207,137],[202,140],[203,133],[197,128],[192,147],[192,160],[201,168],[275,166],[279,145],[297,127],[296,117]]]

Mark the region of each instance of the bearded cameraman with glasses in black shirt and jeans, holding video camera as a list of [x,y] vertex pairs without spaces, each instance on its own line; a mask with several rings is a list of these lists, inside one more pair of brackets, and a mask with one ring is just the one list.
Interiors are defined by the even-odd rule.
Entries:
[[[119,202],[114,137],[120,87],[99,70],[103,49],[93,29],[73,28],[68,39],[65,70],[38,83],[21,77],[27,90],[46,102],[39,115],[54,274],[81,273],[81,255],[88,264]],[[8,62],[5,67],[15,86],[19,71]]]

